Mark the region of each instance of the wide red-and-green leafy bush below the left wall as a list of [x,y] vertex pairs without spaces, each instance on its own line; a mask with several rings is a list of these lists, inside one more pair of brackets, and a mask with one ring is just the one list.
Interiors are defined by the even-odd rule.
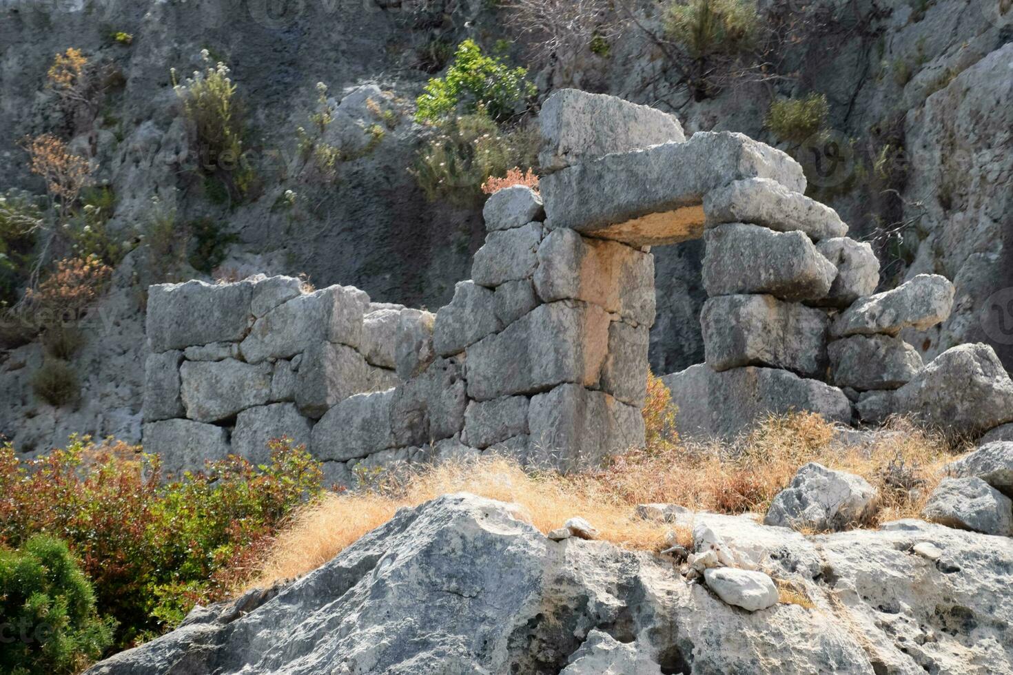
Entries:
[[173,627],[194,603],[223,599],[289,512],[320,491],[302,447],[271,443],[271,459],[237,458],[163,480],[158,457],[124,443],[71,438],[20,460],[0,447],[0,545],[61,536],[93,580],[98,610],[129,647]]

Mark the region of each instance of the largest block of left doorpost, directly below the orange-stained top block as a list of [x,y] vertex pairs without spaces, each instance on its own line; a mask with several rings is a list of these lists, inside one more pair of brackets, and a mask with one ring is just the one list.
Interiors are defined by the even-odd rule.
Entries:
[[608,351],[609,315],[563,301],[536,308],[468,348],[468,396],[488,401],[563,383],[597,386]]

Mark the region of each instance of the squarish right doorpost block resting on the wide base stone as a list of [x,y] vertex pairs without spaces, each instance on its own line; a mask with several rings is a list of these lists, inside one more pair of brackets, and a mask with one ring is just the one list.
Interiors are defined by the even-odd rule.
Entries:
[[719,296],[700,313],[704,357],[715,370],[743,365],[806,376],[827,369],[826,313],[773,296]]

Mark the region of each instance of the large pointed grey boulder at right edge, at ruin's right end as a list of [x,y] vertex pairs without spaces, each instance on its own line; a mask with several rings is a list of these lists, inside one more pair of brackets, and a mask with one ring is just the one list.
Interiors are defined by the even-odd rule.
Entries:
[[950,433],[975,437],[1013,422],[1013,382],[986,344],[961,344],[928,363],[890,401],[910,415]]

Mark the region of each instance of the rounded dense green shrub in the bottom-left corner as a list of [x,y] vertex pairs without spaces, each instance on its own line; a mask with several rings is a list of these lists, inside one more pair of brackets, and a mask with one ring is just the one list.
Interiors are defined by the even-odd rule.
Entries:
[[0,549],[0,672],[79,672],[112,643],[114,625],[98,615],[66,543],[40,534]]

